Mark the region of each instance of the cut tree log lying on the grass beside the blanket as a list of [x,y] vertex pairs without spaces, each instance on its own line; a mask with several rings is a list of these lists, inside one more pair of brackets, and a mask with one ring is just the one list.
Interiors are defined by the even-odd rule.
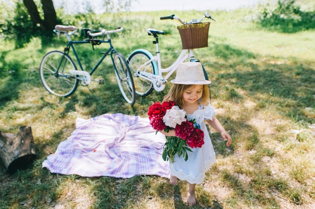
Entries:
[[0,158],[10,174],[33,163],[36,153],[30,126],[21,127],[18,134],[0,131]]

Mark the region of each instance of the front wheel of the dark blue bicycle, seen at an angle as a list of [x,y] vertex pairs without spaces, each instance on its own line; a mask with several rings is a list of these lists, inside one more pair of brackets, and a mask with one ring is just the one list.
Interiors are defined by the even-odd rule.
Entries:
[[121,94],[124,99],[132,105],[136,100],[136,94],[129,66],[124,56],[119,52],[115,53],[113,64]]

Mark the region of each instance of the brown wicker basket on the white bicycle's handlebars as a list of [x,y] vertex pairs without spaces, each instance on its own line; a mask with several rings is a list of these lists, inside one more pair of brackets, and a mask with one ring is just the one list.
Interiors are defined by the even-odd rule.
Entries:
[[177,27],[182,39],[183,49],[208,47],[208,32],[210,22],[192,23]]

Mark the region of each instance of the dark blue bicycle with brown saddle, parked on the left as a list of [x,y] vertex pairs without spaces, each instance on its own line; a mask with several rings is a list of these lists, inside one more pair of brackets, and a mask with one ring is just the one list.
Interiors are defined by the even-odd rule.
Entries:
[[[76,28],[74,26],[56,25],[54,32],[57,33],[58,36],[60,34],[65,35],[68,42],[63,52],[56,50],[48,52],[40,63],[40,79],[46,90],[54,95],[66,97],[74,93],[80,81],[81,85],[84,86],[89,85],[91,81],[104,84],[103,79],[93,80],[91,79],[91,75],[99,67],[105,57],[110,55],[114,65],[119,89],[124,99],[131,105],[134,104],[135,88],[129,66],[124,56],[114,49],[110,38],[110,34],[121,32],[123,28],[111,31],[107,31],[105,29],[92,30],[89,28],[84,28],[82,30],[86,39],[83,41],[72,41],[70,36],[76,32]],[[95,38],[98,36],[102,36],[102,39]],[[105,39],[105,37],[107,39]],[[94,45],[100,45],[102,43],[109,44],[109,48],[105,52],[101,52],[103,55],[90,72],[84,70],[80,57],[78,57],[74,47],[75,44],[87,43],[92,44],[93,47]],[[79,70],[72,58],[69,56],[71,49],[80,67]]]

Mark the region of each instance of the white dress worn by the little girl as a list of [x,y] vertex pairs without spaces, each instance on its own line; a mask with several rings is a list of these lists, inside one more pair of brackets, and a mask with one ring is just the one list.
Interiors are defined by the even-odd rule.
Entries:
[[206,171],[215,162],[215,153],[205,125],[205,120],[212,120],[215,111],[208,102],[206,106],[199,104],[198,110],[186,115],[188,120],[195,119],[198,127],[203,130],[204,144],[201,148],[191,148],[193,152],[187,151],[187,161],[182,156],[175,155],[174,162],[170,163],[170,171],[173,176],[181,180],[187,180],[191,184],[200,184],[205,178]]

